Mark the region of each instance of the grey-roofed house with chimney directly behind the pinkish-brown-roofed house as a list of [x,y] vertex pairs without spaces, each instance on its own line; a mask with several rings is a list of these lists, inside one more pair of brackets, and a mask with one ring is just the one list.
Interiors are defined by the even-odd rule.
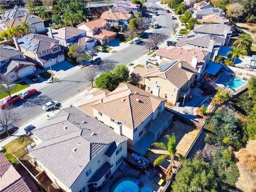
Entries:
[[179,41],[176,46],[188,46],[207,51],[211,53],[211,60],[215,60],[218,52],[225,43],[225,38],[211,34],[195,34],[185,36]]

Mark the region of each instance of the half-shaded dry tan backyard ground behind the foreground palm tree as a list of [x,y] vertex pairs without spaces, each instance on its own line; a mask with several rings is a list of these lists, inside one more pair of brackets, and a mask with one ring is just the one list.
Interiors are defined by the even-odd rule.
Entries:
[[[178,119],[174,119],[171,126],[165,130],[165,132],[161,135],[161,137],[157,140],[157,142],[164,142],[167,143],[167,140],[164,138],[165,135],[172,135],[174,133],[176,137],[176,149],[177,154],[185,155],[195,140],[197,134],[199,133],[199,129],[195,129],[194,126],[185,124]],[[150,161],[154,161],[159,155],[165,154],[165,151],[158,150],[155,147],[152,147],[150,150],[147,151],[146,155],[147,158],[150,159]],[[175,157],[174,165],[179,165],[178,157]],[[165,169],[170,164],[170,159],[165,161],[161,166],[163,166]],[[173,167],[172,172],[174,172],[175,169]]]

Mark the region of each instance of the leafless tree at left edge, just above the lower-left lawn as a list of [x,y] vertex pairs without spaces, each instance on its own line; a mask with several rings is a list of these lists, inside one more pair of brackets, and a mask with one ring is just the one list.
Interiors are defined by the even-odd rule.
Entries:
[[0,125],[3,126],[7,135],[9,135],[8,126],[15,125],[19,120],[20,117],[12,106],[6,107],[5,109],[0,109]]

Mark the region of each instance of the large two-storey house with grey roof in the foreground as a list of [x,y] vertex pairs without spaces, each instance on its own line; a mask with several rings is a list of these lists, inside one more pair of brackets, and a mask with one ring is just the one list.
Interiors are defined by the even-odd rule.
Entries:
[[62,191],[100,187],[127,155],[127,138],[71,106],[32,131],[29,151],[38,168]]

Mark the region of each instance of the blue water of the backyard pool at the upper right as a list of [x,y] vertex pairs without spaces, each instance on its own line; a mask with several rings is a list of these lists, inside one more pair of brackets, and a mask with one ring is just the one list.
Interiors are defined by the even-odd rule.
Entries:
[[231,89],[236,89],[237,87],[245,84],[244,81],[242,81],[241,78],[239,77],[228,77],[228,76],[220,76],[218,81],[216,82],[217,84],[223,84],[225,87],[229,87]]

